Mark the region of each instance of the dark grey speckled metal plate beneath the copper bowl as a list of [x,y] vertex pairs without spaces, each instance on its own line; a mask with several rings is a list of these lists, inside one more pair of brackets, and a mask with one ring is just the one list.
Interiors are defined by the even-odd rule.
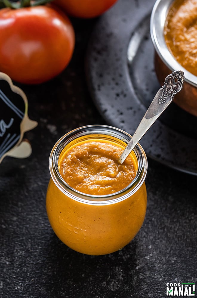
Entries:
[[[98,19],[87,49],[87,83],[99,112],[131,135],[160,88],[149,29],[154,2],[119,0]],[[196,127],[197,118],[172,103],[140,143],[147,156],[197,175]]]

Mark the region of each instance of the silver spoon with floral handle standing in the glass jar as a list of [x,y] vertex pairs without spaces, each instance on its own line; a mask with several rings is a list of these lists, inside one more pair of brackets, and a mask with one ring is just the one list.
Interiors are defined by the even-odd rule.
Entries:
[[140,124],[138,125],[135,133],[130,139],[127,147],[124,149],[121,154],[118,162],[121,164],[131,153],[133,148],[137,145],[140,139],[144,134],[149,130],[153,125],[156,119],[163,113],[167,106],[173,101],[174,96],[181,91],[184,83],[184,72],[175,71],[172,72],[165,78],[164,86],[162,86],[158,91],[155,97],[153,98],[152,103],[147,109],[144,117],[141,119]]

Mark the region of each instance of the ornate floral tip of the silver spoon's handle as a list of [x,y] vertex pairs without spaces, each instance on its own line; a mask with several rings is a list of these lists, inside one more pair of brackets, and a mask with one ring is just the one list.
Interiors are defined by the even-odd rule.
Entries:
[[184,73],[179,70],[171,73],[165,78],[164,86],[161,96],[158,98],[159,105],[165,103],[166,100],[172,100],[174,95],[181,91],[184,83]]

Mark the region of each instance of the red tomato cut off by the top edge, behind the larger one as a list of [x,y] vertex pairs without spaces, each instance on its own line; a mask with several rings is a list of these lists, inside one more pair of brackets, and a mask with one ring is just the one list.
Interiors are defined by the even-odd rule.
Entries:
[[54,0],[66,13],[78,18],[94,18],[104,13],[117,0]]

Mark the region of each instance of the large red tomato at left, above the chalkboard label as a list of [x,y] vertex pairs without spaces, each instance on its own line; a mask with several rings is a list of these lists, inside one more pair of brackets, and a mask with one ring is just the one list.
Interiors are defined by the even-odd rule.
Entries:
[[73,26],[52,7],[0,10],[0,71],[20,83],[52,79],[69,63],[74,49]]

